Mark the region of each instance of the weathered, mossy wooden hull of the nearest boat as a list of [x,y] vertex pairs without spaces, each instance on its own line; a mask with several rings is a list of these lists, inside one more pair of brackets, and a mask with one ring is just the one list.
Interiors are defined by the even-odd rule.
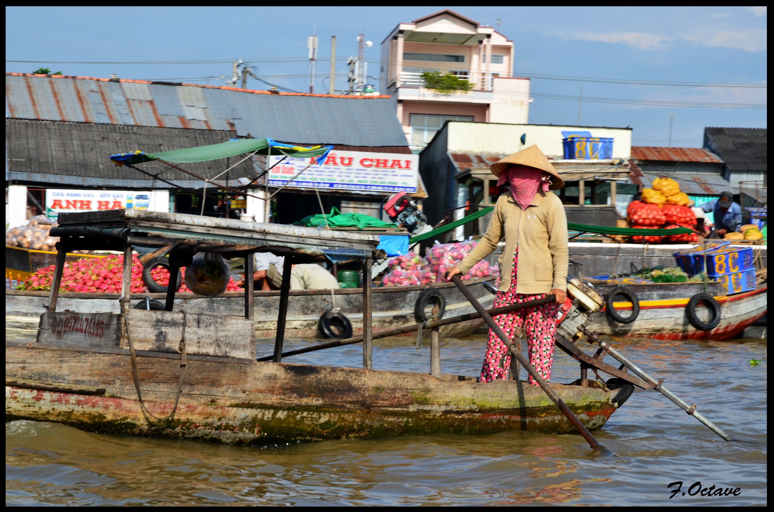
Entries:
[[[5,360],[6,419],[90,432],[236,445],[507,429],[574,432],[543,391],[524,383],[204,356],[188,358],[174,418],[149,423],[128,350],[6,342]],[[180,354],[140,353],[138,369],[149,410],[170,414]],[[601,428],[632,392],[631,384],[614,391],[552,386],[589,429]]]

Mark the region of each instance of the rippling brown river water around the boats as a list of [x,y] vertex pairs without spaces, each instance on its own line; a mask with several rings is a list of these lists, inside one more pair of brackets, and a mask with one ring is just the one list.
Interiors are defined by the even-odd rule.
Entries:
[[[6,331],[10,340],[26,336]],[[310,343],[288,340],[286,350]],[[481,335],[442,341],[442,370],[477,375],[484,346]],[[580,435],[532,432],[248,448],[7,422],[5,503],[765,505],[765,340],[615,346],[738,441],[724,442],[661,394],[639,389],[593,432],[616,457],[595,454]],[[259,346],[270,352],[269,343]],[[373,361],[377,370],[430,369],[429,348],[417,353],[411,338],[375,340]],[[362,352],[340,347],[287,362],[361,367]],[[578,375],[577,363],[557,353],[552,380]],[[670,500],[673,482],[682,484]],[[737,495],[700,495],[712,485]]]

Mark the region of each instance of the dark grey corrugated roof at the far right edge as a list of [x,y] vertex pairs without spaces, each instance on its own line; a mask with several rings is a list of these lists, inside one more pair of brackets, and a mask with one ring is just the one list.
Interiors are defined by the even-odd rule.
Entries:
[[731,171],[767,172],[767,128],[704,128],[704,145]]

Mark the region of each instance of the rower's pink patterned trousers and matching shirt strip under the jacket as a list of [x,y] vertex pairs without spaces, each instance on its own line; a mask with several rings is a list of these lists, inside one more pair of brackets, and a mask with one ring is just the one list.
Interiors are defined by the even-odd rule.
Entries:
[[[519,259],[519,249],[513,254],[513,270],[511,272],[511,286],[507,292],[497,292],[495,303],[492,307],[500,308],[504,305],[518,304],[534,299],[543,299],[547,293],[526,295],[516,293],[516,265]],[[518,309],[494,317],[495,323],[500,326],[511,340],[515,336],[516,329],[521,327],[526,334],[529,348],[529,364],[531,364],[543,377],[544,381],[550,381],[551,366],[553,365],[553,343],[557,333],[557,303],[537,305],[531,308]],[[511,356],[508,347],[498,336],[489,329],[487,338],[487,350],[484,357],[484,366],[481,367],[481,382],[491,382],[495,379],[507,379],[511,366]],[[537,386],[533,377],[529,376],[529,384]]]

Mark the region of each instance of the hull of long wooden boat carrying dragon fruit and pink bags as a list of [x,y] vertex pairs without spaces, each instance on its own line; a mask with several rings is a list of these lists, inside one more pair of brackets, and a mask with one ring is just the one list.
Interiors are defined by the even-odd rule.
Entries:
[[[476,279],[468,284],[471,292],[485,307],[491,307],[493,295],[481,283],[491,279],[493,278]],[[437,289],[444,295],[446,300],[444,317],[474,312],[473,306],[451,283],[374,288],[373,331],[379,332],[416,323],[414,305],[420,294],[427,288]],[[166,298],[166,295],[161,293],[152,293],[148,296],[162,302]],[[146,295],[143,294],[132,294],[132,301],[140,302],[145,297]],[[335,301],[331,298],[330,290],[291,291],[286,319],[286,339],[320,338],[318,327],[320,316],[334,307],[340,307],[341,312],[350,320],[354,334],[361,334],[363,331],[362,298],[362,288],[335,290]],[[48,292],[7,290],[5,292],[6,325],[17,329],[37,329],[39,316],[45,311],[43,305],[46,302],[48,302]],[[118,295],[101,293],[60,293],[57,309],[59,311],[70,309],[70,311],[84,313],[120,312]],[[244,295],[238,292],[228,292],[221,297],[179,293],[176,295],[174,309],[175,311],[182,309],[190,313],[242,316],[245,314],[245,300]],[[255,336],[257,338],[276,336],[278,311],[279,292],[255,292]],[[483,325],[482,319],[470,320],[444,326],[440,329],[440,334],[447,338],[467,336]],[[414,334],[411,333],[409,336]]]

